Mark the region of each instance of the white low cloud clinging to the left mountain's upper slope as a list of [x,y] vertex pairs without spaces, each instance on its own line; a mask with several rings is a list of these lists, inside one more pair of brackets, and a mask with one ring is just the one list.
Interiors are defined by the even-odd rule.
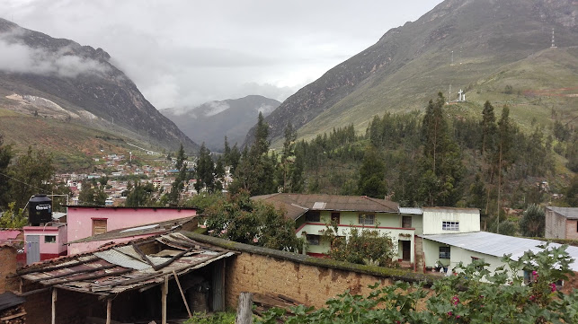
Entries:
[[0,34],[0,71],[75,78],[79,74],[102,75],[109,70],[96,60],[71,54],[70,48],[49,52],[14,41],[14,36]]

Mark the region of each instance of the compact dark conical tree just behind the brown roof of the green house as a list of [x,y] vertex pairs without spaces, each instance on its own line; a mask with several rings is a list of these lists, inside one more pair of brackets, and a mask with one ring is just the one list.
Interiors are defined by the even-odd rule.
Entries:
[[361,163],[358,193],[374,198],[383,198],[387,194],[386,163],[373,148],[368,148]]

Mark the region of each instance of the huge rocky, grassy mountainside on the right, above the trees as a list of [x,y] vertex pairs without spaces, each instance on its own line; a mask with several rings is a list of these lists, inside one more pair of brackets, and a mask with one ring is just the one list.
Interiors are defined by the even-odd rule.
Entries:
[[[494,73],[502,67],[550,48],[553,29],[558,50],[578,46],[577,15],[574,0],[443,1],[283,101],[265,118],[271,137],[279,140],[288,122],[299,128],[301,138],[349,124],[362,131],[375,115],[423,109],[440,91],[449,96],[451,85],[453,99],[463,89],[472,101],[492,100],[503,88],[478,86],[496,80]],[[563,55],[569,59],[563,64],[572,71],[576,61],[570,54]],[[535,84],[558,85],[551,76]],[[553,104],[574,118],[578,115],[567,108],[569,102]],[[253,134],[254,127],[245,144],[252,143]]]

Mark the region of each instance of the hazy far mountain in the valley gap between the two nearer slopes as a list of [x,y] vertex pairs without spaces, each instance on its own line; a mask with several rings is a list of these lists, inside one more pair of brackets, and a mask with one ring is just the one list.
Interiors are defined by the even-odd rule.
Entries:
[[259,112],[268,116],[279,105],[280,101],[249,95],[240,99],[209,101],[193,108],[160,111],[193,141],[204,142],[209,149],[220,151],[225,136],[231,146],[242,144],[248,130],[256,124]]

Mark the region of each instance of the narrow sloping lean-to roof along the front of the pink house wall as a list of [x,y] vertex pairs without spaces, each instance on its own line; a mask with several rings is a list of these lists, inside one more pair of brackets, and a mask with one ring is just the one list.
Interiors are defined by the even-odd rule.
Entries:
[[89,236],[84,239],[69,241],[67,243],[69,245],[68,250],[70,251],[70,254],[83,253],[97,250],[106,243],[121,243],[179,230],[193,231],[197,228],[197,225],[197,217],[191,216],[165,222],[147,223],[144,225],[121,228]]

